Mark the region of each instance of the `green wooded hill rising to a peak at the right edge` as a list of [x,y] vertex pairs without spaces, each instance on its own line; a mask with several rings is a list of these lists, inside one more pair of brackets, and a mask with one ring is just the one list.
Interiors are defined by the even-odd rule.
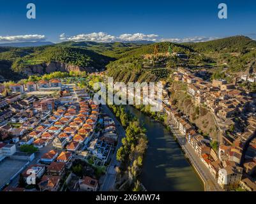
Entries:
[[256,41],[246,36],[183,45],[210,57],[216,66],[227,68],[227,73],[250,72],[255,69]]

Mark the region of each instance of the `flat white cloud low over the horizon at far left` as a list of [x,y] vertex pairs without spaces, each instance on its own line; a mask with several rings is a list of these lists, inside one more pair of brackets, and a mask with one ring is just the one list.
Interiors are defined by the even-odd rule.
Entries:
[[19,36],[0,36],[0,41],[43,41],[44,35],[40,34],[26,34]]

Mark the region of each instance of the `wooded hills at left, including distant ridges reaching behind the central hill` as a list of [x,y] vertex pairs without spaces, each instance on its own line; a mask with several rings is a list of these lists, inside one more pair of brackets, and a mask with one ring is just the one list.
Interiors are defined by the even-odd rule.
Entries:
[[[43,63],[62,62],[71,66],[102,70],[125,52],[147,45],[149,41],[96,43],[66,41],[41,47],[0,47],[0,80],[22,77],[24,68]],[[2,77],[1,77],[2,76]]]

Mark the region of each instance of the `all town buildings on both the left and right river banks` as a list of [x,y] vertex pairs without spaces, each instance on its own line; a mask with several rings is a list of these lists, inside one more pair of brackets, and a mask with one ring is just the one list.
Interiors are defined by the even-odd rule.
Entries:
[[[105,72],[93,75],[107,77]],[[186,85],[185,94],[195,107],[211,113],[220,133],[218,142],[200,132],[178,110],[166,82],[162,82],[160,115],[167,115],[170,131],[204,182],[206,191],[237,188],[255,191],[255,96],[236,84],[248,77],[242,75],[228,84],[227,80],[207,82],[201,78],[203,75],[204,71],[195,73],[177,68],[170,78]],[[86,86],[81,88],[81,80],[87,78],[73,77],[73,84],[67,83],[68,78],[52,78],[10,85],[11,95],[1,99],[0,171],[6,172],[10,166],[11,171],[1,173],[1,189],[114,189],[115,177],[109,177],[110,184],[106,183],[106,177],[110,175],[107,171],[114,173],[118,165],[116,150],[121,139],[116,127],[118,121],[107,105],[94,104],[93,92]],[[1,91],[5,89],[1,85]],[[143,89],[143,95],[142,92]],[[154,103],[154,98],[147,100],[149,104]],[[33,170],[36,184],[26,183],[31,177],[28,170]]]

